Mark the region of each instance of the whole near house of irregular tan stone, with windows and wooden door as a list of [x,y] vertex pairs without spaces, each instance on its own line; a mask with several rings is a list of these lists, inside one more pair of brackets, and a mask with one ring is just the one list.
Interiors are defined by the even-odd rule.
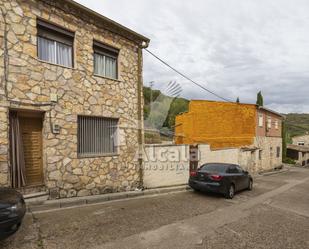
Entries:
[[64,198],[141,184],[149,39],[72,0],[0,8],[0,186]]

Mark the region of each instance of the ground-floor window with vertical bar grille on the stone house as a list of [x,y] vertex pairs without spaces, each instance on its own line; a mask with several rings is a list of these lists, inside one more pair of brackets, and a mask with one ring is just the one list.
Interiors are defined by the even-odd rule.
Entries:
[[78,154],[116,154],[117,133],[118,119],[78,116]]

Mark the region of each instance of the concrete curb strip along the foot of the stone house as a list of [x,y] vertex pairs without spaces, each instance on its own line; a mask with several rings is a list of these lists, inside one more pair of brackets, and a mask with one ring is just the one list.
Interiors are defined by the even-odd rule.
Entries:
[[130,199],[135,197],[142,196],[151,196],[158,194],[166,194],[180,191],[187,191],[191,189],[188,185],[181,185],[176,187],[168,187],[168,188],[155,188],[155,189],[146,189],[143,191],[129,191],[129,192],[120,192],[120,193],[111,193],[111,194],[103,194],[103,195],[91,195],[85,197],[73,197],[73,198],[65,198],[65,199],[57,199],[57,200],[32,200],[26,201],[27,211],[28,212],[40,212],[40,211],[48,211],[55,210],[61,208],[68,207],[78,207],[81,205],[88,204],[99,204],[114,200],[121,199]]

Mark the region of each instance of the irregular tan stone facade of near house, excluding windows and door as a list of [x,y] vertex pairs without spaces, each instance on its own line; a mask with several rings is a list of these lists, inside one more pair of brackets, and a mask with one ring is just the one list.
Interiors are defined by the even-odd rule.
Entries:
[[[0,186],[10,186],[8,114],[16,108],[44,115],[44,184],[53,197],[135,188],[140,181],[134,158],[138,150],[138,94],[142,94],[138,92],[138,42],[102,28],[86,14],[81,18],[81,10],[65,1],[2,0],[0,7],[5,14],[5,20],[0,17]],[[73,68],[38,59],[37,18],[74,32]],[[93,39],[119,49],[118,80],[94,76]],[[52,94],[58,97],[56,103],[51,103]],[[78,115],[118,118],[118,153],[79,158]],[[51,123],[60,125],[60,134],[51,132]]]

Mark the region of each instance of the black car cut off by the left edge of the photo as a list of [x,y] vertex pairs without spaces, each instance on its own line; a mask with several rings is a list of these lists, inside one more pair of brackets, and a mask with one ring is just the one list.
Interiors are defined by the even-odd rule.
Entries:
[[25,213],[23,196],[14,189],[0,188],[0,240],[18,230]]

